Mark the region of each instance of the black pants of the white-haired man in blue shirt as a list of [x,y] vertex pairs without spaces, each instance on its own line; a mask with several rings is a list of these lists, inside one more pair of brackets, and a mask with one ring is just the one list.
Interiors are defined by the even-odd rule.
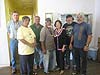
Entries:
[[75,48],[75,62],[76,70],[82,74],[86,74],[87,69],[87,51],[84,51],[83,48]]

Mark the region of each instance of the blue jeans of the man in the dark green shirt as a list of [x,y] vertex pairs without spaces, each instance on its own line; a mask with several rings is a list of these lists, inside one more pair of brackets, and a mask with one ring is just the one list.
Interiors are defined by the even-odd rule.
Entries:
[[34,53],[34,65],[39,65],[43,63],[43,53],[41,51],[41,48],[36,47],[35,53]]

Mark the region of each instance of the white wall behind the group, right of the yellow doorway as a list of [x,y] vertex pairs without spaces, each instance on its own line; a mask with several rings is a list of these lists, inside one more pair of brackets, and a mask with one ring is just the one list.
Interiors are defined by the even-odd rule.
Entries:
[[[99,0],[98,0],[99,1]],[[99,4],[99,2],[97,2]],[[96,6],[97,7],[97,6]],[[91,13],[93,14],[93,36],[95,34],[95,0],[38,0],[38,15],[45,24],[45,13],[54,13],[54,19],[60,14]],[[94,46],[94,37],[91,46]]]

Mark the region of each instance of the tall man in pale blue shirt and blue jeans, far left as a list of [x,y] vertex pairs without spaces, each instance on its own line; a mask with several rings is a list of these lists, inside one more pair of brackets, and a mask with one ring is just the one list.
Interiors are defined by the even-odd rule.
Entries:
[[7,33],[10,38],[12,73],[16,73],[16,49],[18,47],[17,30],[21,26],[21,24],[22,22],[19,21],[18,12],[14,11],[12,13],[12,19],[9,21],[7,25]]

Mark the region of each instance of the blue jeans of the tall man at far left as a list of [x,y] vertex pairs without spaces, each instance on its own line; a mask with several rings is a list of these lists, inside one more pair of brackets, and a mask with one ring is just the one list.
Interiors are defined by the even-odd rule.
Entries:
[[18,41],[16,39],[10,39],[10,53],[12,69],[16,68],[16,49],[18,48]]

